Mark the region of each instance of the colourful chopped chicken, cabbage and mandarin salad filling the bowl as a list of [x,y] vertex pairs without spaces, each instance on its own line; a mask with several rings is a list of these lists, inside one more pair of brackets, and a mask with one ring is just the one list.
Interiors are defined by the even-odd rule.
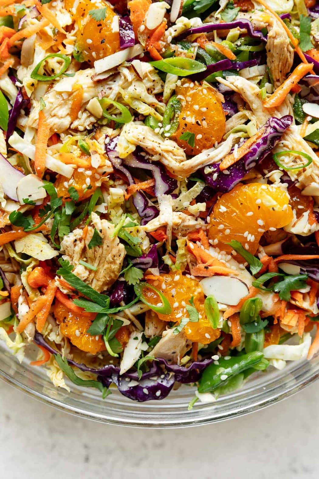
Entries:
[[191,408],[319,351],[318,45],[315,0],[0,0],[19,361]]

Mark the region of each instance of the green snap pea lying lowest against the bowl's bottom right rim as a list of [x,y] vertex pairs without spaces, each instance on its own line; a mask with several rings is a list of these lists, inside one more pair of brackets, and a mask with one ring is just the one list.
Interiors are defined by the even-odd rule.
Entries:
[[230,359],[220,358],[219,365],[211,364],[204,370],[198,383],[198,392],[214,391],[224,380],[258,364],[263,357],[263,353],[254,351],[241,356],[233,356]]

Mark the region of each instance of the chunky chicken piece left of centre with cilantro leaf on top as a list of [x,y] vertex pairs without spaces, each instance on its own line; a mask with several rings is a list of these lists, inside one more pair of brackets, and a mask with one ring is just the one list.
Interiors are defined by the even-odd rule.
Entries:
[[[88,227],[86,238],[82,238],[81,229],[75,229],[61,241],[61,250],[65,253],[63,258],[75,267],[73,273],[96,291],[101,292],[109,289],[117,280],[121,272],[125,248],[117,236],[112,238],[114,225],[106,219],[101,220],[96,213],[91,214],[91,219],[93,227]],[[102,244],[89,249],[88,243],[92,239],[94,228],[98,230]],[[79,264],[80,260],[94,266],[96,271]]]

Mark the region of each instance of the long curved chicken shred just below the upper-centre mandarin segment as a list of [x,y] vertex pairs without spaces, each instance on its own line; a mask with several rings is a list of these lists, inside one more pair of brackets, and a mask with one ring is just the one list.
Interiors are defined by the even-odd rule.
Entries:
[[230,135],[218,148],[209,148],[187,160],[184,150],[175,141],[164,139],[149,126],[130,122],[121,130],[118,151],[120,158],[126,158],[136,146],[140,146],[153,155],[150,160],[160,161],[171,173],[187,178],[198,168],[222,160],[231,151],[234,138]]

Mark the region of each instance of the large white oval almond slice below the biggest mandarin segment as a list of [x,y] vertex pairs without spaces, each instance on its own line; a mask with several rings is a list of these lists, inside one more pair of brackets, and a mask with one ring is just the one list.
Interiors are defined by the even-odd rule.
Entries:
[[211,276],[200,282],[206,296],[213,295],[219,303],[235,306],[249,289],[246,283],[234,276]]

